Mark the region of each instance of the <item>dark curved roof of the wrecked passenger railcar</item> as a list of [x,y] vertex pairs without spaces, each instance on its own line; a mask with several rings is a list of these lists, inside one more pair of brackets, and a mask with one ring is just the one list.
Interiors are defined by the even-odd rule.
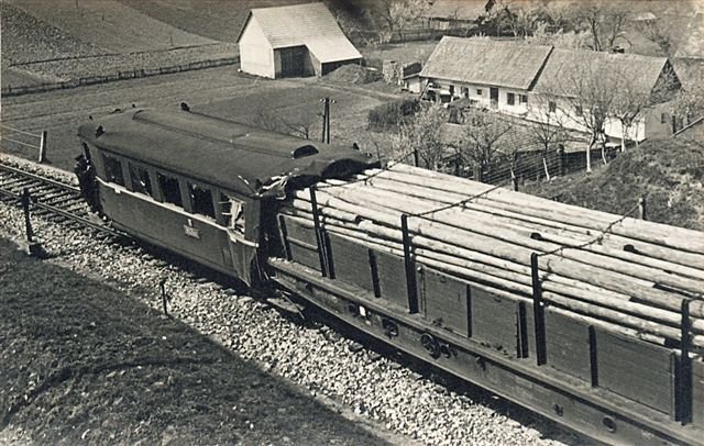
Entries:
[[186,111],[130,110],[89,121],[78,134],[99,148],[254,198],[375,164],[351,147]]

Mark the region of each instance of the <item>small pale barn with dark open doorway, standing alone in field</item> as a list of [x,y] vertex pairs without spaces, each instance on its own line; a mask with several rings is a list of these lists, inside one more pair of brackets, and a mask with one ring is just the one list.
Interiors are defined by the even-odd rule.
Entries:
[[241,69],[272,79],[322,76],[362,59],[324,3],[252,9],[238,44]]

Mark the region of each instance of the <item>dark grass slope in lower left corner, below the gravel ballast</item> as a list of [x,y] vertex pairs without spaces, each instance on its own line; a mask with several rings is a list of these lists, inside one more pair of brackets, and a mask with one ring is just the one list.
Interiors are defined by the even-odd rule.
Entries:
[[189,326],[1,238],[0,289],[0,433],[21,428],[37,444],[384,443]]

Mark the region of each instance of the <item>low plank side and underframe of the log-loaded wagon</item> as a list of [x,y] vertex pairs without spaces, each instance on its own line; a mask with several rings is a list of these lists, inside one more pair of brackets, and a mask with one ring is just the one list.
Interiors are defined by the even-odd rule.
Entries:
[[[419,312],[413,314],[403,256],[346,236],[329,239],[322,249],[333,277],[321,272],[312,245],[315,268],[295,257],[270,259],[274,279],[359,330],[603,442],[697,443],[701,428],[679,420],[688,397],[678,397],[676,349],[625,338],[548,306],[547,363],[539,365],[531,301],[416,265]],[[693,369],[696,419],[703,416],[696,399],[704,394],[704,367],[697,363]]]

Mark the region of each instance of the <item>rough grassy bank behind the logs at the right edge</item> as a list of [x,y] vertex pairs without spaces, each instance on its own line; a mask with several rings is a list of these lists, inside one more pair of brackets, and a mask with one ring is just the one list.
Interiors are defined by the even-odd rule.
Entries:
[[704,145],[669,138],[620,154],[591,175],[573,174],[522,191],[616,214],[645,197],[648,220],[704,231],[703,182]]

